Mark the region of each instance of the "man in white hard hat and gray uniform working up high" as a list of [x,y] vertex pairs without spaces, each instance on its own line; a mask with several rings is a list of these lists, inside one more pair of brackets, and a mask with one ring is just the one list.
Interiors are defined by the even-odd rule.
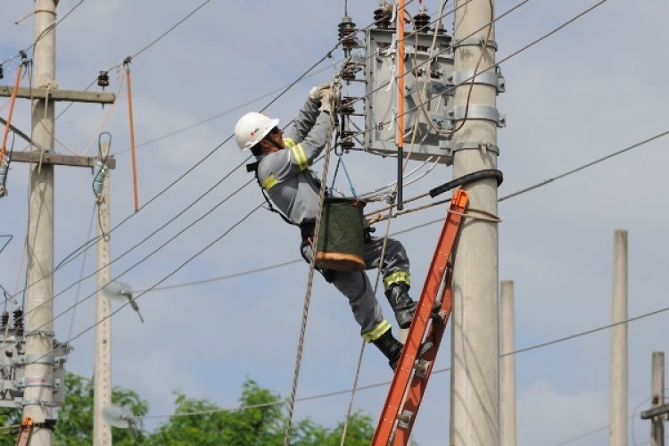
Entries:
[[[313,87],[309,99],[294,120],[293,130],[287,135],[277,127],[279,120],[253,111],[245,114],[235,126],[237,145],[244,151],[251,150],[256,157],[256,176],[260,186],[283,212],[285,219],[300,227],[301,253],[307,261],[313,256],[310,239],[315,227],[320,189],[320,180],[311,171],[310,165],[325,148],[332,131],[332,91],[330,84]],[[364,245],[366,268],[378,268],[382,245],[383,239],[368,237]],[[391,325],[384,319],[365,271],[320,271],[326,281],[348,298],[363,339],[374,343],[394,370],[403,345],[392,335]],[[385,295],[395,318],[401,328],[408,328],[416,302],[409,297],[409,259],[400,242],[387,240],[381,271]]]

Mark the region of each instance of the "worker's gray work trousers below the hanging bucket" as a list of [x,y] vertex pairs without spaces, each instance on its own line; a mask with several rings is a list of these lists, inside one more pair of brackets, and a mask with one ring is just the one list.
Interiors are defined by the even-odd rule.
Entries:
[[[378,237],[372,237],[369,243],[364,246],[363,256],[365,259],[365,268],[378,268],[381,260],[381,251],[384,240]],[[302,244],[302,257],[311,261],[313,256],[313,247],[310,244]],[[381,267],[383,277],[392,277],[395,273],[406,273],[409,275],[409,258],[404,246],[397,240],[387,239],[384,253],[384,263]],[[360,334],[368,339],[366,334],[373,333],[376,328],[385,322],[384,314],[376,301],[374,286],[369,282],[369,277],[365,271],[334,271],[328,269],[323,271],[328,282],[335,287],[349,300],[353,317],[360,326]],[[381,335],[381,334],[379,334]]]

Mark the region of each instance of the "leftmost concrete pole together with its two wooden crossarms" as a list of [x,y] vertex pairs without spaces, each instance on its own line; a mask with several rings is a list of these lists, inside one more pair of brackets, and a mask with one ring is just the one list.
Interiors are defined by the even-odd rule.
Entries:
[[[54,153],[54,109],[57,101],[113,103],[115,95],[58,91],[55,71],[55,21],[57,0],[35,2],[35,63],[33,85],[19,88],[16,97],[33,99],[32,144],[29,153],[13,153],[12,162],[29,162],[29,222],[26,251],[28,266],[24,312],[26,367],[23,386],[23,416],[35,426],[31,446],[50,445],[54,413],[54,165],[93,167],[94,158]],[[0,97],[10,96],[12,87],[0,87]],[[106,161],[113,169],[116,162]]]

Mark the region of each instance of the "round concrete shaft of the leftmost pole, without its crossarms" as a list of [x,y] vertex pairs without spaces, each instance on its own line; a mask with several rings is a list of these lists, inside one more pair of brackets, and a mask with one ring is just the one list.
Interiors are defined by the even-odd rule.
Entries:
[[[54,82],[54,0],[35,2],[34,84],[47,87]],[[48,151],[54,149],[54,103],[37,99],[32,103],[32,140]],[[37,148],[33,148],[37,150]],[[29,223],[27,237],[26,371],[23,416],[44,423],[54,413],[54,166],[30,166]],[[33,362],[34,361],[34,362]],[[31,446],[49,445],[54,433],[35,429]]]

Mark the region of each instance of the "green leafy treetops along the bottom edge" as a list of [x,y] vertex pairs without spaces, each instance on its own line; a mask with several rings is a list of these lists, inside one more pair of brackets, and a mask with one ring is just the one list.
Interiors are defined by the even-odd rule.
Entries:
[[[57,409],[54,445],[83,446],[93,444],[93,382],[83,376],[66,374],[67,396]],[[240,409],[225,410],[206,399],[189,398],[175,392],[175,412],[153,432],[146,432],[141,420],[148,403],[135,391],[114,387],[111,401],[131,409],[136,417],[136,438],[128,429],[111,428],[112,442],[121,446],[219,446],[284,444],[285,408],[280,396],[263,389],[252,379],[242,386]],[[21,410],[0,414],[0,425],[21,423]],[[339,446],[343,423],[328,429],[310,418],[293,424],[290,444],[294,446]],[[346,428],[346,446],[367,446],[374,436],[371,417],[355,413]],[[0,446],[13,445],[16,434],[0,435]]]

